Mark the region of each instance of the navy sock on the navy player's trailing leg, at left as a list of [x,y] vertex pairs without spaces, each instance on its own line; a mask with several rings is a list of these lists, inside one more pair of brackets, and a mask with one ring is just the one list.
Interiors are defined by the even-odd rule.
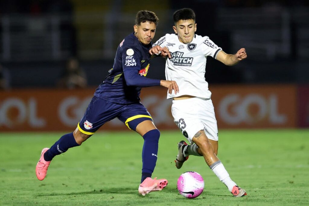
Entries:
[[76,143],[73,132],[65,134],[45,152],[44,159],[45,161],[51,161],[56,155],[60,155],[74,146],[79,146],[79,144]]

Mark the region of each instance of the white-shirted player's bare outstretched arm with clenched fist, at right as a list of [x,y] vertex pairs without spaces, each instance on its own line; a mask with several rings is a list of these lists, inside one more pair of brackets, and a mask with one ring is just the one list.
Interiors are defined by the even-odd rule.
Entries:
[[247,53],[245,48],[241,48],[237,51],[236,54],[226,54],[224,51],[219,51],[217,55],[217,60],[222,62],[227,66],[233,66],[238,64],[239,61],[247,58]]

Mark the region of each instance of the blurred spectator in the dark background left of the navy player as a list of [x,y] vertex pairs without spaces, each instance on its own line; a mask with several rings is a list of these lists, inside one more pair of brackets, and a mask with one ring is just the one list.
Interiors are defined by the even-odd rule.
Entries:
[[80,68],[77,59],[70,58],[67,61],[66,68],[61,75],[61,79],[57,82],[57,86],[68,89],[85,88],[87,86],[85,72]]

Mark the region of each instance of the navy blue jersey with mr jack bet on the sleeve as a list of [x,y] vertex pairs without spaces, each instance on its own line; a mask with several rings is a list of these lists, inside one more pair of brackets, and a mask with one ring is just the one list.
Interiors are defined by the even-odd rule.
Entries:
[[[129,77],[126,76],[125,78],[124,73],[129,70],[136,70],[136,75],[146,76],[151,57],[149,54],[151,47],[152,43],[142,44],[134,33],[125,37],[117,48],[113,68],[109,70],[109,75],[96,89],[94,96],[118,104],[131,104],[140,101],[141,87],[128,86]],[[152,80],[144,79],[148,82]],[[160,85],[159,81],[156,80],[155,84],[146,86]]]

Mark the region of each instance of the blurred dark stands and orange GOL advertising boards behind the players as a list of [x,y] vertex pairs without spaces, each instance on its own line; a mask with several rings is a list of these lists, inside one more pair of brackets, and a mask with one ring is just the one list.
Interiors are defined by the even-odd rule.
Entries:
[[[112,68],[116,48],[133,31],[138,10],[154,11],[154,42],[173,33],[172,14],[189,7],[197,34],[247,60],[227,67],[208,58],[218,127],[309,127],[309,2],[305,0],[1,0],[0,131],[71,131]],[[61,84],[75,58],[87,84]],[[148,76],[164,79],[164,60]],[[85,86],[87,85],[87,86]],[[177,130],[165,89],[142,89],[159,129]],[[126,127],[118,120],[101,130]]]

